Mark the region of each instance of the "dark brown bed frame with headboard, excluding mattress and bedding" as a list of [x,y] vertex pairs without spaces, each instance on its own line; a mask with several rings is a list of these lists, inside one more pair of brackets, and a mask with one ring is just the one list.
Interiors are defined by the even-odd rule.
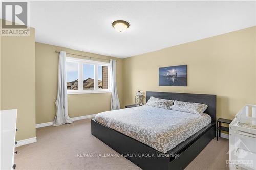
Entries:
[[206,104],[208,108],[205,113],[211,116],[212,122],[172,150],[169,150],[166,155],[144,143],[106,127],[94,119],[91,120],[92,135],[109,145],[119,154],[123,154],[126,159],[129,159],[142,169],[184,169],[215,137],[216,95],[147,91],[146,101],[151,96]]

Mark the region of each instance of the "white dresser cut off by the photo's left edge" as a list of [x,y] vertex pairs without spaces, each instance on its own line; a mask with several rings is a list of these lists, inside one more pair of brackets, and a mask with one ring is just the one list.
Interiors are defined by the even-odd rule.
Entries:
[[15,134],[16,134],[17,109],[0,111],[0,130],[1,130],[1,148],[0,148],[0,169],[15,169]]

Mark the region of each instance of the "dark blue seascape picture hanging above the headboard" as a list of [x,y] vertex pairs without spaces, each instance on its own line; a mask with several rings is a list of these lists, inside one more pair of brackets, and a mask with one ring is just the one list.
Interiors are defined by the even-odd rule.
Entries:
[[187,86],[187,65],[159,68],[159,86]]

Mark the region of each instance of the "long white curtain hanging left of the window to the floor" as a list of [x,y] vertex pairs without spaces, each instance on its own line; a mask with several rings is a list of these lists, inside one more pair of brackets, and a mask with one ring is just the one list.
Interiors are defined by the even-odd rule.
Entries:
[[66,52],[59,53],[59,67],[58,67],[58,92],[56,105],[56,116],[53,126],[72,123],[68,115],[68,99],[67,99],[67,82],[66,82]]

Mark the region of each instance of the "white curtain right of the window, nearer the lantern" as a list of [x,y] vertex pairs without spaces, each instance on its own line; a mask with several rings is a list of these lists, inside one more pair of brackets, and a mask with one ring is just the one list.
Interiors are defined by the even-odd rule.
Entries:
[[110,60],[110,91],[112,92],[111,110],[120,109],[116,88],[116,60]]

